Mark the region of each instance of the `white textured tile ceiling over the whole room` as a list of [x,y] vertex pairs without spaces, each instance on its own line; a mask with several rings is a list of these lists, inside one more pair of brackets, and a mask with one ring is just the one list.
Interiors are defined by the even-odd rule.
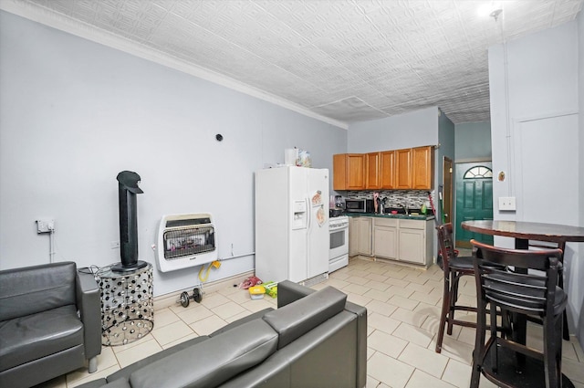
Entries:
[[489,46],[572,21],[584,0],[504,1],[496,20],[477,14],[490,0],[12,2],[336,120],[440,106],[456,123],[489,118]]

